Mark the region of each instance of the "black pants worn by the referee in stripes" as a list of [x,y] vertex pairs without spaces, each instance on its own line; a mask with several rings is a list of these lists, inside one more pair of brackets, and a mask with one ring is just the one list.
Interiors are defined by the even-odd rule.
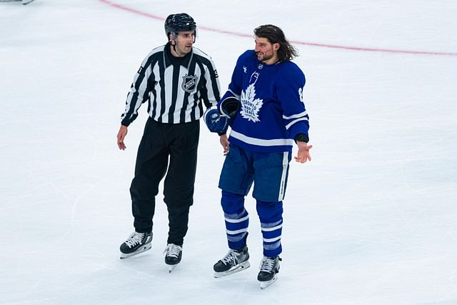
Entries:
[[144,128],[130,194],[137,232],[152,230],[155,196],[164,181],[169,244],[182,246],[193,204],[200,122],[164,124],[149,118]]

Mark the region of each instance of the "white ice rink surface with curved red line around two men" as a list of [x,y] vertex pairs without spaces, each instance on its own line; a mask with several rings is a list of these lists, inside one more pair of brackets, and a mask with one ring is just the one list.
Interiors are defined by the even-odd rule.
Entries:
[[[224,156],[203,121],[181,264],[164,264],[161,193],[151,251],[119,259],[147,107],[126,151],[120,116],[179,12],[222,89],[258,25],[300,51],[313,160],[291,162],[281,271],[263,291],[251,196],[251,268],[214,279]],[[0,3],[0,304],[457,304],[456,16],[453,0]]]

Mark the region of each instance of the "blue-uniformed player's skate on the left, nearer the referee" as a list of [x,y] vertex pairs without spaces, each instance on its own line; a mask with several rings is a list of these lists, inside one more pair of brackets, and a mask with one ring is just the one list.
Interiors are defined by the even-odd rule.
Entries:
[[214,264],[214,277],[219,278],[222,276],[228,276],[244,269],[248,269],[251,264],[249,264],[249,253],[248,247],[244,246],[241,249],[230,251]]

